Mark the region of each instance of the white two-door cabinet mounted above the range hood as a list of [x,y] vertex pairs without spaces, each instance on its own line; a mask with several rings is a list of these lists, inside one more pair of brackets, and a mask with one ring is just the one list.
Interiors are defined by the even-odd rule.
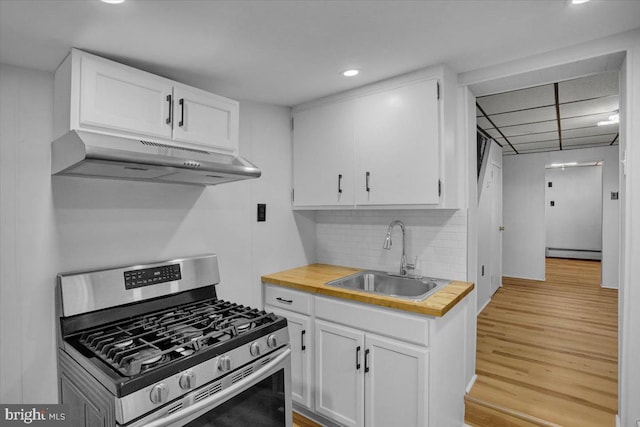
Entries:
[[78,129],[237,154],[239,104],[77,49],[56,71],[56,136]]

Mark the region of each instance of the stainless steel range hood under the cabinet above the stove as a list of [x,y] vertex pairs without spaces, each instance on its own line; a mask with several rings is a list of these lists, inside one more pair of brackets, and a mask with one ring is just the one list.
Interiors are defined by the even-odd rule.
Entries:
[[216,185],[259,178],[261,171],[239,156],[72,130],[52,143],[51,174]]

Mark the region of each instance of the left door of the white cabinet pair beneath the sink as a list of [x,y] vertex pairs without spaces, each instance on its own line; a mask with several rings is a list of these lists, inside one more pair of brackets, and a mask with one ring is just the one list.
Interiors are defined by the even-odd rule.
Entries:
[[364,333],[322,320],[315,326],[316,412],[344,426],[362,426]]

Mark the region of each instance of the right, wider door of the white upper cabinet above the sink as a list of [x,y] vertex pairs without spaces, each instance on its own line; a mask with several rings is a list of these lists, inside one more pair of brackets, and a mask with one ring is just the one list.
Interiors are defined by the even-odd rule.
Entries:
[[437,80],[411,83],[356,102],[356,204],[437,204]]

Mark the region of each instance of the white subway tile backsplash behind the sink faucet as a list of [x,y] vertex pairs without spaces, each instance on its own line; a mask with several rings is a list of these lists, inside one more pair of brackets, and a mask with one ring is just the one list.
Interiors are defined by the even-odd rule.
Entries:
[[318,262],[399,271],[399,227],[391,235],[391,249],[382,249],[387,228],[396,219],[405,224],[407,260],[417,257],[416,274],[466,280],[466,210],[318,211]]

